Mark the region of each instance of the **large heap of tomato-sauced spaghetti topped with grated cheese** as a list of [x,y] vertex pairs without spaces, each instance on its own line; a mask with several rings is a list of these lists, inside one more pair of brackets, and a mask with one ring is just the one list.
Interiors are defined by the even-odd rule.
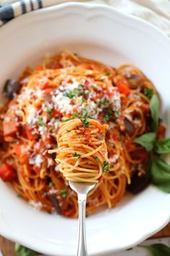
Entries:
[[[66,127],[75,122],[80,124],[79,119],[86,116],[108,124],[105,141],[110,163],[109,171],[100,182],[97,182],[100,176],[97,171],[97,185],[89,193],[86,211],[93,213],[102,205],[115,207],[125,195],[133,174],[146,174],[149,153],[134,140],[151,131],[150,95],[156,92],[153,84],[131,64],[115,69],[68,50],[45,58],[36,69],[25,69],[16,82],[20,90],[14,91],[13,98],[10,95],[0,116],[1,179],[10,182],[17,195],[29,201],[34,208],[49,213],[57,210],[72,218],[78,216],[76,194],[64,176],[68,177],[75,163],[85,166],[85,161],[89,161],[90,166],[99,165],[101,172],[106,152],[104,140],[99,138],[103,143],[101,148],[97,148],[99,162],[94,163],[94,156],[89,156],[88,160],[81,159],[79,154],[84,155],[85,148],[74,149],[74,140],[73,151],[76,150],[78,156],[71,151],[69,166],[68,161],[61,162],[62,147],[66,146],[65,143],[68,143],[68,148],[72,147],[65,139],[73,132],[66,133]],[[62,132],[58,133],[60,124]],[[157,136],[164,137],[163,124],[159,124],[158,131]],[[57,161],[61,166],[55,163],[55,153],[48,153],[48,150],[56,148],[57,136]],[[98,140],[97,147],[100,147]],[[75,158],[79,159],[76,161]],[[96,174],[96,168],[92,169]]]

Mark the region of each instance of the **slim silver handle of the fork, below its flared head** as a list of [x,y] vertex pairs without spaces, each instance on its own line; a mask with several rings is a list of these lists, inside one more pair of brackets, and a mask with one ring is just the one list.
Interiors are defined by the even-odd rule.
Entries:
[[79,194],[79,244],[76,256],[88,256],[86,251],[86,195]]

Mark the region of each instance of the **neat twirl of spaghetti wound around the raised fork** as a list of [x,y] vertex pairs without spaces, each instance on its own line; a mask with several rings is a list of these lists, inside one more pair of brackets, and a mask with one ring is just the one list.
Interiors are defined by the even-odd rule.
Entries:
[[[73,119],[61,124],[58,131],[55,161],[71,182],[98,183],[103,171],[109,171],[104,137],[108,125],[94,119]],[[106,168],[107,167],[107,168]]]

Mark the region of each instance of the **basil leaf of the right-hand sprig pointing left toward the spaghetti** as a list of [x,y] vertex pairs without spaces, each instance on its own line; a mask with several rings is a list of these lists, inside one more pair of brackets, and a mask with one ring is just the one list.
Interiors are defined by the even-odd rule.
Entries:
[[155,139],[156,139],[156,133],[149,132],[149,133],[146,133],[145,135],[142,135],[136,138],[134,141],[142,145],[144,148],[146,148],[147,151],[151,151],[153,149]]

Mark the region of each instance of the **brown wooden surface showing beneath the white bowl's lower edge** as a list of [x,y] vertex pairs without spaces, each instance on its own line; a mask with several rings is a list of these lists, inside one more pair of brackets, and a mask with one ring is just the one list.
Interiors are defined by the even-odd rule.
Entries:
[[[166,236],[170,236],[170,223],[168,226],[166,226],[166,228],[162,229],[151,238],[160,238]],[[14,242],[4,239],[3,236],[0,236],[0,249],[4,256],[16,256],[14,253]]]

